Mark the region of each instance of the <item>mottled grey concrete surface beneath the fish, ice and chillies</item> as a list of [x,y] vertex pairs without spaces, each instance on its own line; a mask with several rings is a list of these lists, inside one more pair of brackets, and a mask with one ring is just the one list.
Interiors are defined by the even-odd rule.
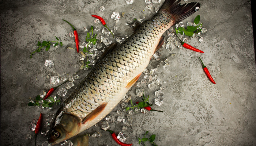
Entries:
[[[150,0],[151,1],[151,0]],[[77,53],[74,37],[69,37],[72,28],[62,21],[72,23],[79,34],[79,41],[85,41],[86,32],[95,24],[92,14],[102,16],[108,27],[114,30],[115,38],[132,34],[131,26],[126,25],[134,18],[146,20],[155,14],[154,8],[160,8],[164,0],[153,5],[152,12],[144,12],[148,4],[144,0],[134,0],[127,4],[125,0],[0,0],[1,20],[1,146],[34,145],[34,132],[29,130],[33,119],[43,114],[41,131],[49,130],[45,126],[47,116],[55,114],[58,105],[52,109],[29,107],[29,101],[35,96],[47,92],[55,85],[50,84],[51,76],[69,78],[78,75],[74,80],[75,86],[68,89],[67,94],[59,96],[53,92],[57,99],[64,101],[75,89],[76,85],[87,75],[89,70],[80,70],[79,60],[82,54]],[[160,58],[152,58],[147,66],[148,70],[156,69],[156,78],[161,82],[149,89],[150,82],[137,84],[129,90],[133,103],[141,101],[135,95],[135,90],[143,89],[149,95],[152,108],[163,112],[147,111],[145,114],[124,112],[121,103],[109,115],[116,119],[122,116],[128,120],[127,130],[123,131],[123,122],[110,123],[110,129],[126,134],[125,143],[138,144],[146,131],[146,137],[155,134],[155,144],[158,146],[238,146],[256,145],[256,69],[255,50],[253,45],[253,29],[251,2],[249,0],[189,0],[185,2],[199,2],[200,10],[182,20],[185,27],[187,22],[193,22],[201,16],[200,22],[207,32],[203,34],[204,40],[188,38],[188,43],[203,50],[197,53],[185,48],[173,50],[161,48]],[[99,11],[104,6],[104,11]],[[120,20],[112,20],[113,12],[119,12]],[[122,15],[123,14],[123,15]],[[95,31],[94,31],[95,32]],[[101,33],[101,32],[95,32]],[[167,34],[165,33],[167,43]],[[63,46],[50,47],[49,51],[42,49],[30,58],[35,51],[38,41],[54,41],[60,38]],[[103,35],[103,37],[106,37]],[[102,47],[105,45],[102,43]],[[102,49],[99,49],[100,52]],[[82,49],[80,48],[80,51]],[[199,58],[202,58],[216,84],[207,78]],[[166,59],[169,65],[164,66]],[[52,68],[44,66],[45,60],[52,60]],[[143,79],[145,75],[139,78]],[[61,82],[60,82],[61,83]],[[60,84],[59,83],[59,84]],[[59,85],[58,84],[58,85]],[[163,104],[155,105],[155,91],[160,87],[163,90]],[[122,102],[122,101],[121,101]],[[128,103],[131,107],[131,103]],[[121,114],[117,114],[117,110]],[[101,123],[98,123],[100,126]],[[101,133],[101,137],[89,137],[90,146],[118,146],[108,131],[99,126],[93,126],[80,135]],[[28,138],[31,135],[31,138]],[[47,138],[39,134],[37,145],[41,146]],[[151,145],[146,142],[146,145]]]

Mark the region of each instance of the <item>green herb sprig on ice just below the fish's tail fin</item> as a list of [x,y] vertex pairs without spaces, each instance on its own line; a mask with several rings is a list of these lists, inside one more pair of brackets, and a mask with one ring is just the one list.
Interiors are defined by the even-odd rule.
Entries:
[[187,29],[185,29],[184,27],[178,27],[178,29],[175,28],[176,34],[183,35],[183,32],[187,36],[192,36],[193,34],[198,34],[199,32],[202,31],[202,29],[200,27],[203,24],[203,23],[199,24],[199,22],[200,22],[200,15],[197,15],[196,18],[194,19],[194,23],[195,23],[196,27],[195,26],[188,26]]

